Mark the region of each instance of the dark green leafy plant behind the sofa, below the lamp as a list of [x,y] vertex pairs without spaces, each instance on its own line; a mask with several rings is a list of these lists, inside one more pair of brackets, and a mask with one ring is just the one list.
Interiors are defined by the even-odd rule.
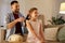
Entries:
[[61,17],[53,17],[51,18],[51,20],[48,20],[50,22],[52,25],[62,25],[62,24],[65,24],[65,20],[63,19],[63,16]]

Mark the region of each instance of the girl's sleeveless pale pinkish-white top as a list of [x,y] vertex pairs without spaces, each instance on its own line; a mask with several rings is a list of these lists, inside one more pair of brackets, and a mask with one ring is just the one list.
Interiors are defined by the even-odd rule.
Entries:
[[[39,30],[40,30],[40,24],[41,24],[41,20],[38,20],[37,22],[31,22],[29,20],[30,25],[32,26],[35,32],[37,33],[37,35],[39,37]],[[32,42],[32,43],[38,43],[38,39],[34,37],[32,32],[28,29],[28,37],[27,37],[27,42]]]

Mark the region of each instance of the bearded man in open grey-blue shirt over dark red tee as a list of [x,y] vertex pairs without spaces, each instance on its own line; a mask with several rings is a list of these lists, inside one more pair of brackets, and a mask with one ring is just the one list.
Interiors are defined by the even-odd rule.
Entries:
[[17,1],[12,1],[11,2],[11,9],[12,9],[12,13],[8,14],[6,17],[6,38],[5,40],[8,40],[8,38],[11,34],[23,34],[23,22],[24,22],[24,16],[20,13],[20,4]]

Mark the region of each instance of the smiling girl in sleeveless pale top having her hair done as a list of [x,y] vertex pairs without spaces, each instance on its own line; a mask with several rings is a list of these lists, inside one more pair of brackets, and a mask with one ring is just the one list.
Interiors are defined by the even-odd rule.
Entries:
[[42,22],[37,19],[38,18],[38,9],[32,8],[29,10],[29,20],[26,20],[26,27],[28,29],[28,43],[43,43],[43,29],[42,29]]

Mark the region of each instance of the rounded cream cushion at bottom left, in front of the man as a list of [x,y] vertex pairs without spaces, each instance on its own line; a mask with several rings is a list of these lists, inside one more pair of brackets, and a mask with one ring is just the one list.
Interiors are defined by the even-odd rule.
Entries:
[[10,43],[22,43],[23,42],[23,37],[18,34],[12,34],[9,37],[8,41]]

